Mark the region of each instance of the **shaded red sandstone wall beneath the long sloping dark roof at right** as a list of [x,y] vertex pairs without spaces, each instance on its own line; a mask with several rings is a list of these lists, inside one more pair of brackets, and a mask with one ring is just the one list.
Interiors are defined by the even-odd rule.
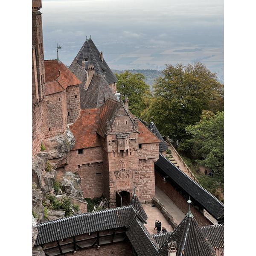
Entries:
[[[179,207],[185,214],[188,212],[189,206],[186,199],[183,198],[183,196],[180,195],[168,182],[163,183],[163,178],[157,172],[155,172],[155,183],[156,186],[172,199],[177,207]],[[190,209],[199,226],[212,225],[212,223],[204,217],[203,213],[195,209],[195,207],[190,205]]]

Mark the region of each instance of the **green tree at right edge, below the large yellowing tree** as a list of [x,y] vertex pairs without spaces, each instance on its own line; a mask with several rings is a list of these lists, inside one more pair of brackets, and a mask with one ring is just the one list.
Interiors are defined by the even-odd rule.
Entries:
[[191,152],[198,159],[197,163],[224,178],[224,112],[217,112],[214,116],[204,112],[200,122],[185,130],[192,136],[187,142],[192,145]]

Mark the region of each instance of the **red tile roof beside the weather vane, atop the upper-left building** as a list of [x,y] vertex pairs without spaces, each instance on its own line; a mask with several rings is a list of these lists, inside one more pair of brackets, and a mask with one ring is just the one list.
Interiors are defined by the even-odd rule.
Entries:
[[57,80],[60,76],[59,71],[61,71],[61,78],[68,86],[81,83],[81,81],[76,78],[76,76],[62,62],[58,62],[57,60],[46,60],[44,61],[44,68],[46,82]]

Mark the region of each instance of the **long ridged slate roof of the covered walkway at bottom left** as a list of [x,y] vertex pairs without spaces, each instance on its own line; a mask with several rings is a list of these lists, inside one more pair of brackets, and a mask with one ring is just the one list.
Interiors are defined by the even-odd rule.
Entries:
[[35,246],[101,230],[125,227],[132,206],[89,212],[37,224]]

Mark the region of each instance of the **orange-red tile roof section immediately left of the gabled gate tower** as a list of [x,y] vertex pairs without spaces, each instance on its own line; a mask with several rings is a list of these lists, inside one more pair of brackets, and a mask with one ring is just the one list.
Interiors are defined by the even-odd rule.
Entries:
[[76,122],[70,125],[70,131],[76,138],[76,144],[72,150],[101,146],[99,135],[96,134],[98,114],[99,108],[83,109]]

